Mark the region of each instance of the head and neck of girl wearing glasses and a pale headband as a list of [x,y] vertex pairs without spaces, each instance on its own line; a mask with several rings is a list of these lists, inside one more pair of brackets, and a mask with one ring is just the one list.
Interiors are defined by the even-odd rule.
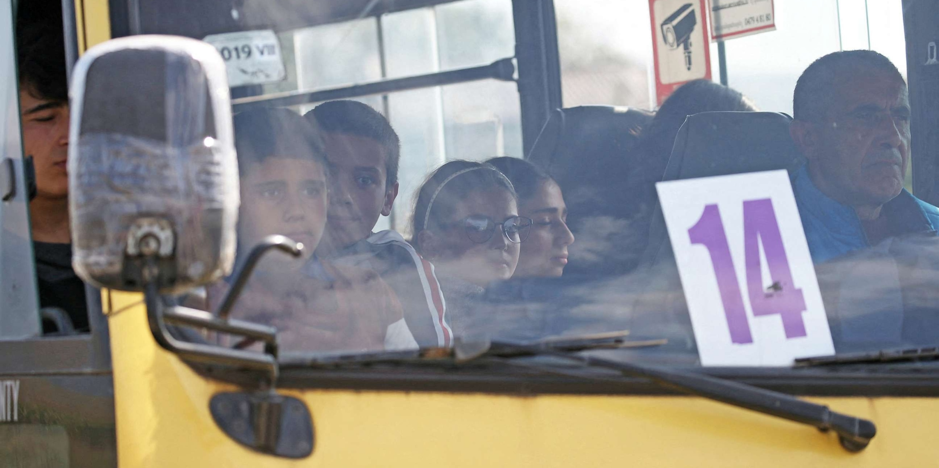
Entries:
[[498,169],[470,161],[441,165],[423,183],[413,217],[414,248],[434,264],[454,333],[465,335],[473,302],[516,271],[531,218]]

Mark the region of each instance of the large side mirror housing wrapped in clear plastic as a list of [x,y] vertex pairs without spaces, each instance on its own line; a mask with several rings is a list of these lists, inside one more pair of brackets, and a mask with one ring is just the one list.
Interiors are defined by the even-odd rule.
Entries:
[[239,185],[225,73],[214,47],[172,36],[109,40],[76,64],[69,213],[86,282],[178,292],[231,271]]

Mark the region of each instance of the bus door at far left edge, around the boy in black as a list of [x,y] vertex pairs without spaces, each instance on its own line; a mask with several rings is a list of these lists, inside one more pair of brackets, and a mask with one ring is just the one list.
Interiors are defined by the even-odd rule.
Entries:
[[[61,308],[39,308],[27,212],[36,182],[21,139],[14,3],[0,2],[0,465],[115,466],[114,390],[100,293],[86,289],[90,331],[76,331]],[[21,2],[20,13],[38,4]],[[61,23],[52,31],[61,34]]]

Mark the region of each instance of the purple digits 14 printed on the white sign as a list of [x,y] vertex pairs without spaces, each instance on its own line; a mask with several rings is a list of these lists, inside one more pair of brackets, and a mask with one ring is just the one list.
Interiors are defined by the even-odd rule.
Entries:
[[[752,343],[753,335],[747,324],[747,310],[740,293],[737,271],[733,266],[731,248],[727,243],[724,223],[717,205],[707,205],[698,223],[688,229],[691,243],[700,243],[711,254],[711,264],[717,278],[717,289],[724,304],[724,315],[731,331],[733,343]],[[760,244],[766,256],[772,285],[763,289]],[[793,284],[789,259],[779,234],[776,211],[769,198],[744,202],[744,263],[747,268],[747,292],[754,316],[778,314],[787,338],[806,335],[802,312],[806,301],[802,289]]]

